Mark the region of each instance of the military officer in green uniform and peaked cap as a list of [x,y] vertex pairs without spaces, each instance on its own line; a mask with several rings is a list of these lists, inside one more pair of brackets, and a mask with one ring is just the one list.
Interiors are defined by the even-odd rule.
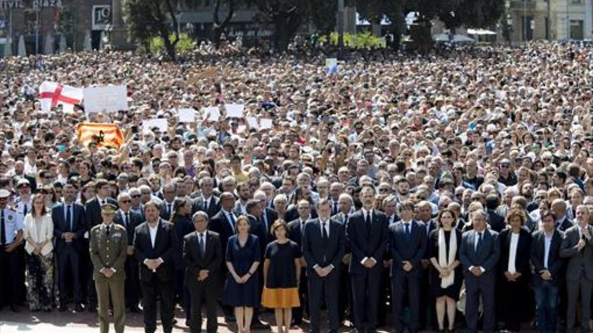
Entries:
[[93,261],[93,279],[99,305],[101,333],[109,332],[109,294],[113,303],[113,318],[116,333],[122,333],[126,320],[124,283],[127,249],[126,228],[113,223],[117,207],[107,203],[101,206],[103,223],[91,229],[90,251]]

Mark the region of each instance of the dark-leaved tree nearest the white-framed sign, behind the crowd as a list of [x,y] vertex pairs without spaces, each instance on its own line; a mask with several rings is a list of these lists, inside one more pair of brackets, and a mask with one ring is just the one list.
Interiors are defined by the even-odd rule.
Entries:
[[132,38],[148,46],[153,37],[161,37],[171,60],[177,58],[177,14],[171,0],[127,0],[124,6],[126,23]]

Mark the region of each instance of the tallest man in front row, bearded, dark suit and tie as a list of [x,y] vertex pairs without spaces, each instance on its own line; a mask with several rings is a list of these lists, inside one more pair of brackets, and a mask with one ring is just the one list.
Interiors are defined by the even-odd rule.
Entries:
[[353,213],[346,226],[350,246],[354,325],[359,333],[374,333],[381,283],[382,260],[387,248],[387,216],[374,210],[375,188],[365,186],[360,193],[362,209]]

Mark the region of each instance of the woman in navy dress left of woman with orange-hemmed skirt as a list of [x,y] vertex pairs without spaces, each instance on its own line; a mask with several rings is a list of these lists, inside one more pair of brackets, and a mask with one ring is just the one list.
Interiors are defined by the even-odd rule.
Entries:
[[253,308],[259,306],[259,271],[261,250],[259,239],[249,233],[250,223],[246,216],[237,217],[235,230],[227,244],[228,277],[222,303],[235,308],[239,333],[250,332]]

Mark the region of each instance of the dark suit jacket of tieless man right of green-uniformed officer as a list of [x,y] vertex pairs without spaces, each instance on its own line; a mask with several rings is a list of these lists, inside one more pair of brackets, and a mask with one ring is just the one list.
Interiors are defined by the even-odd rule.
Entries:
[[[170,281],[173,278],[174,252],[177,248],[177,235],[173,223],[159,219],[157,226],[157,237],[154,248],[150,238],[148,222],[136,226],[134,230],[134,254],[140,266],[140,280],[150,281],[153,274],[161,281]],[[145,259],[163,260],[156,272],[152,272],[144,264]]]

